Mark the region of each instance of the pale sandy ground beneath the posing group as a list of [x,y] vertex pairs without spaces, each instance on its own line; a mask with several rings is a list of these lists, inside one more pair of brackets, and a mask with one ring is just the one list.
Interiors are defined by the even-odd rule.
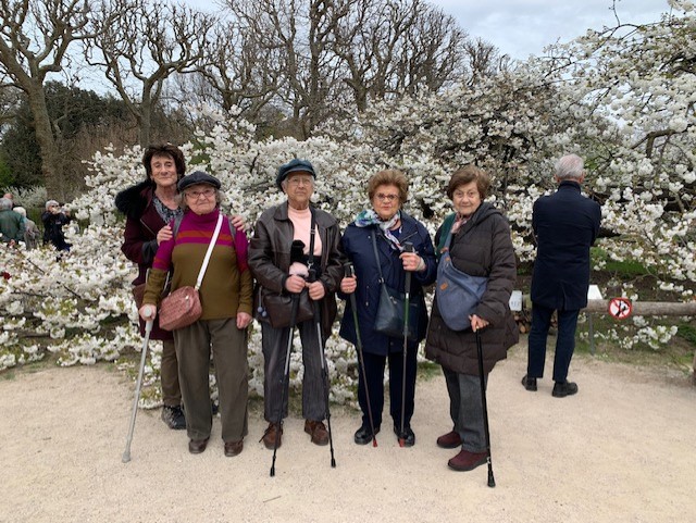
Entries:
[[[337,466],[297,416],[276,475],[250,415],[244,452],[225,458],[215,421],[192,456],[185,432],[140,411],[122,463],[134,385],[107,366],[0,376],[2,522],[687,522],[696,514],[696,388],[684,375],[575,358],[580,394],[525,391],[525,349],[492,374],[493,465],[458,473],[435,439],[450,428],[440,376],[419,383],[417,444],[380,434],[359,447],[359,416],[333,411]],[[550,362],[547,362],[550,366]],[[547,369],[547,374],[550,370]],[[385,425],[387,425],[385,420]]]

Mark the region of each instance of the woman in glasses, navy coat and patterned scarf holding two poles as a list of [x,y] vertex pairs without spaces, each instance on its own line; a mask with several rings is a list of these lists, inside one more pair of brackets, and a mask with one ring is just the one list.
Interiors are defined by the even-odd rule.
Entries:
[[[423,298],[423,286],[431,285],[437,274],[437,262],[427,229],[418,220],[401,211],[408,198],[408,180],[400,171],[387,170],[370,179],[368,196],[372,209],[362,211],[346,228],[343,237],[344,252],[353,263],[356,277],[346,277],[340,284],[343,298],[356,292],[358,324],[362,340],[366,387],[370,393],[374,434],[380,432],[384,407],[384,368],[389,362],[389,401],[394,420],[394,432],[403,438],[407,446],[415,443],[411,429],[413,398],[415,395],[417,351],[427,329],[427,310]],[[403,338],[393,338],[374,331],[374,321],[380,302],[380,270],[377,267],[372,237],[375,237],[380,256],[380,269],[387,286],[403,292],[406,272],[412,274],[410,299],[420,306],[418,317],[410,317],[417,325],[417,336],[407,341],[406,396],[403,434],[401,434],[401,390],[403,381]],[[413,244],[412,253],[403,252],[406,242]],[[357,344],[356,325],[350,302],[340,324],[340,336]],[[358,445],[368,444],[373,432],[368,414],[365,379],[359,373],[358,402],[362,410],[362,425],[355,435]]]

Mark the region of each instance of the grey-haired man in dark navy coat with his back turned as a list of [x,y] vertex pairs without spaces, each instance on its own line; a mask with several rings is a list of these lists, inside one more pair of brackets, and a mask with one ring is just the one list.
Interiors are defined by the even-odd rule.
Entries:
[[577,393],[577,385],[568,381],[568,368],[575,348],[577,315],[587,306],[589,247],[599,233],[601,209],[580,192],[585,178],[582,158],[561,158],[556,163],[555,177],[558,190],[536,200],[532,214],[537,254],[532,276],[527,372],[522,385],[534,391],[536,379],[544,376],[546,338],[551,315],[557,311],[552,395],[564,398]]

